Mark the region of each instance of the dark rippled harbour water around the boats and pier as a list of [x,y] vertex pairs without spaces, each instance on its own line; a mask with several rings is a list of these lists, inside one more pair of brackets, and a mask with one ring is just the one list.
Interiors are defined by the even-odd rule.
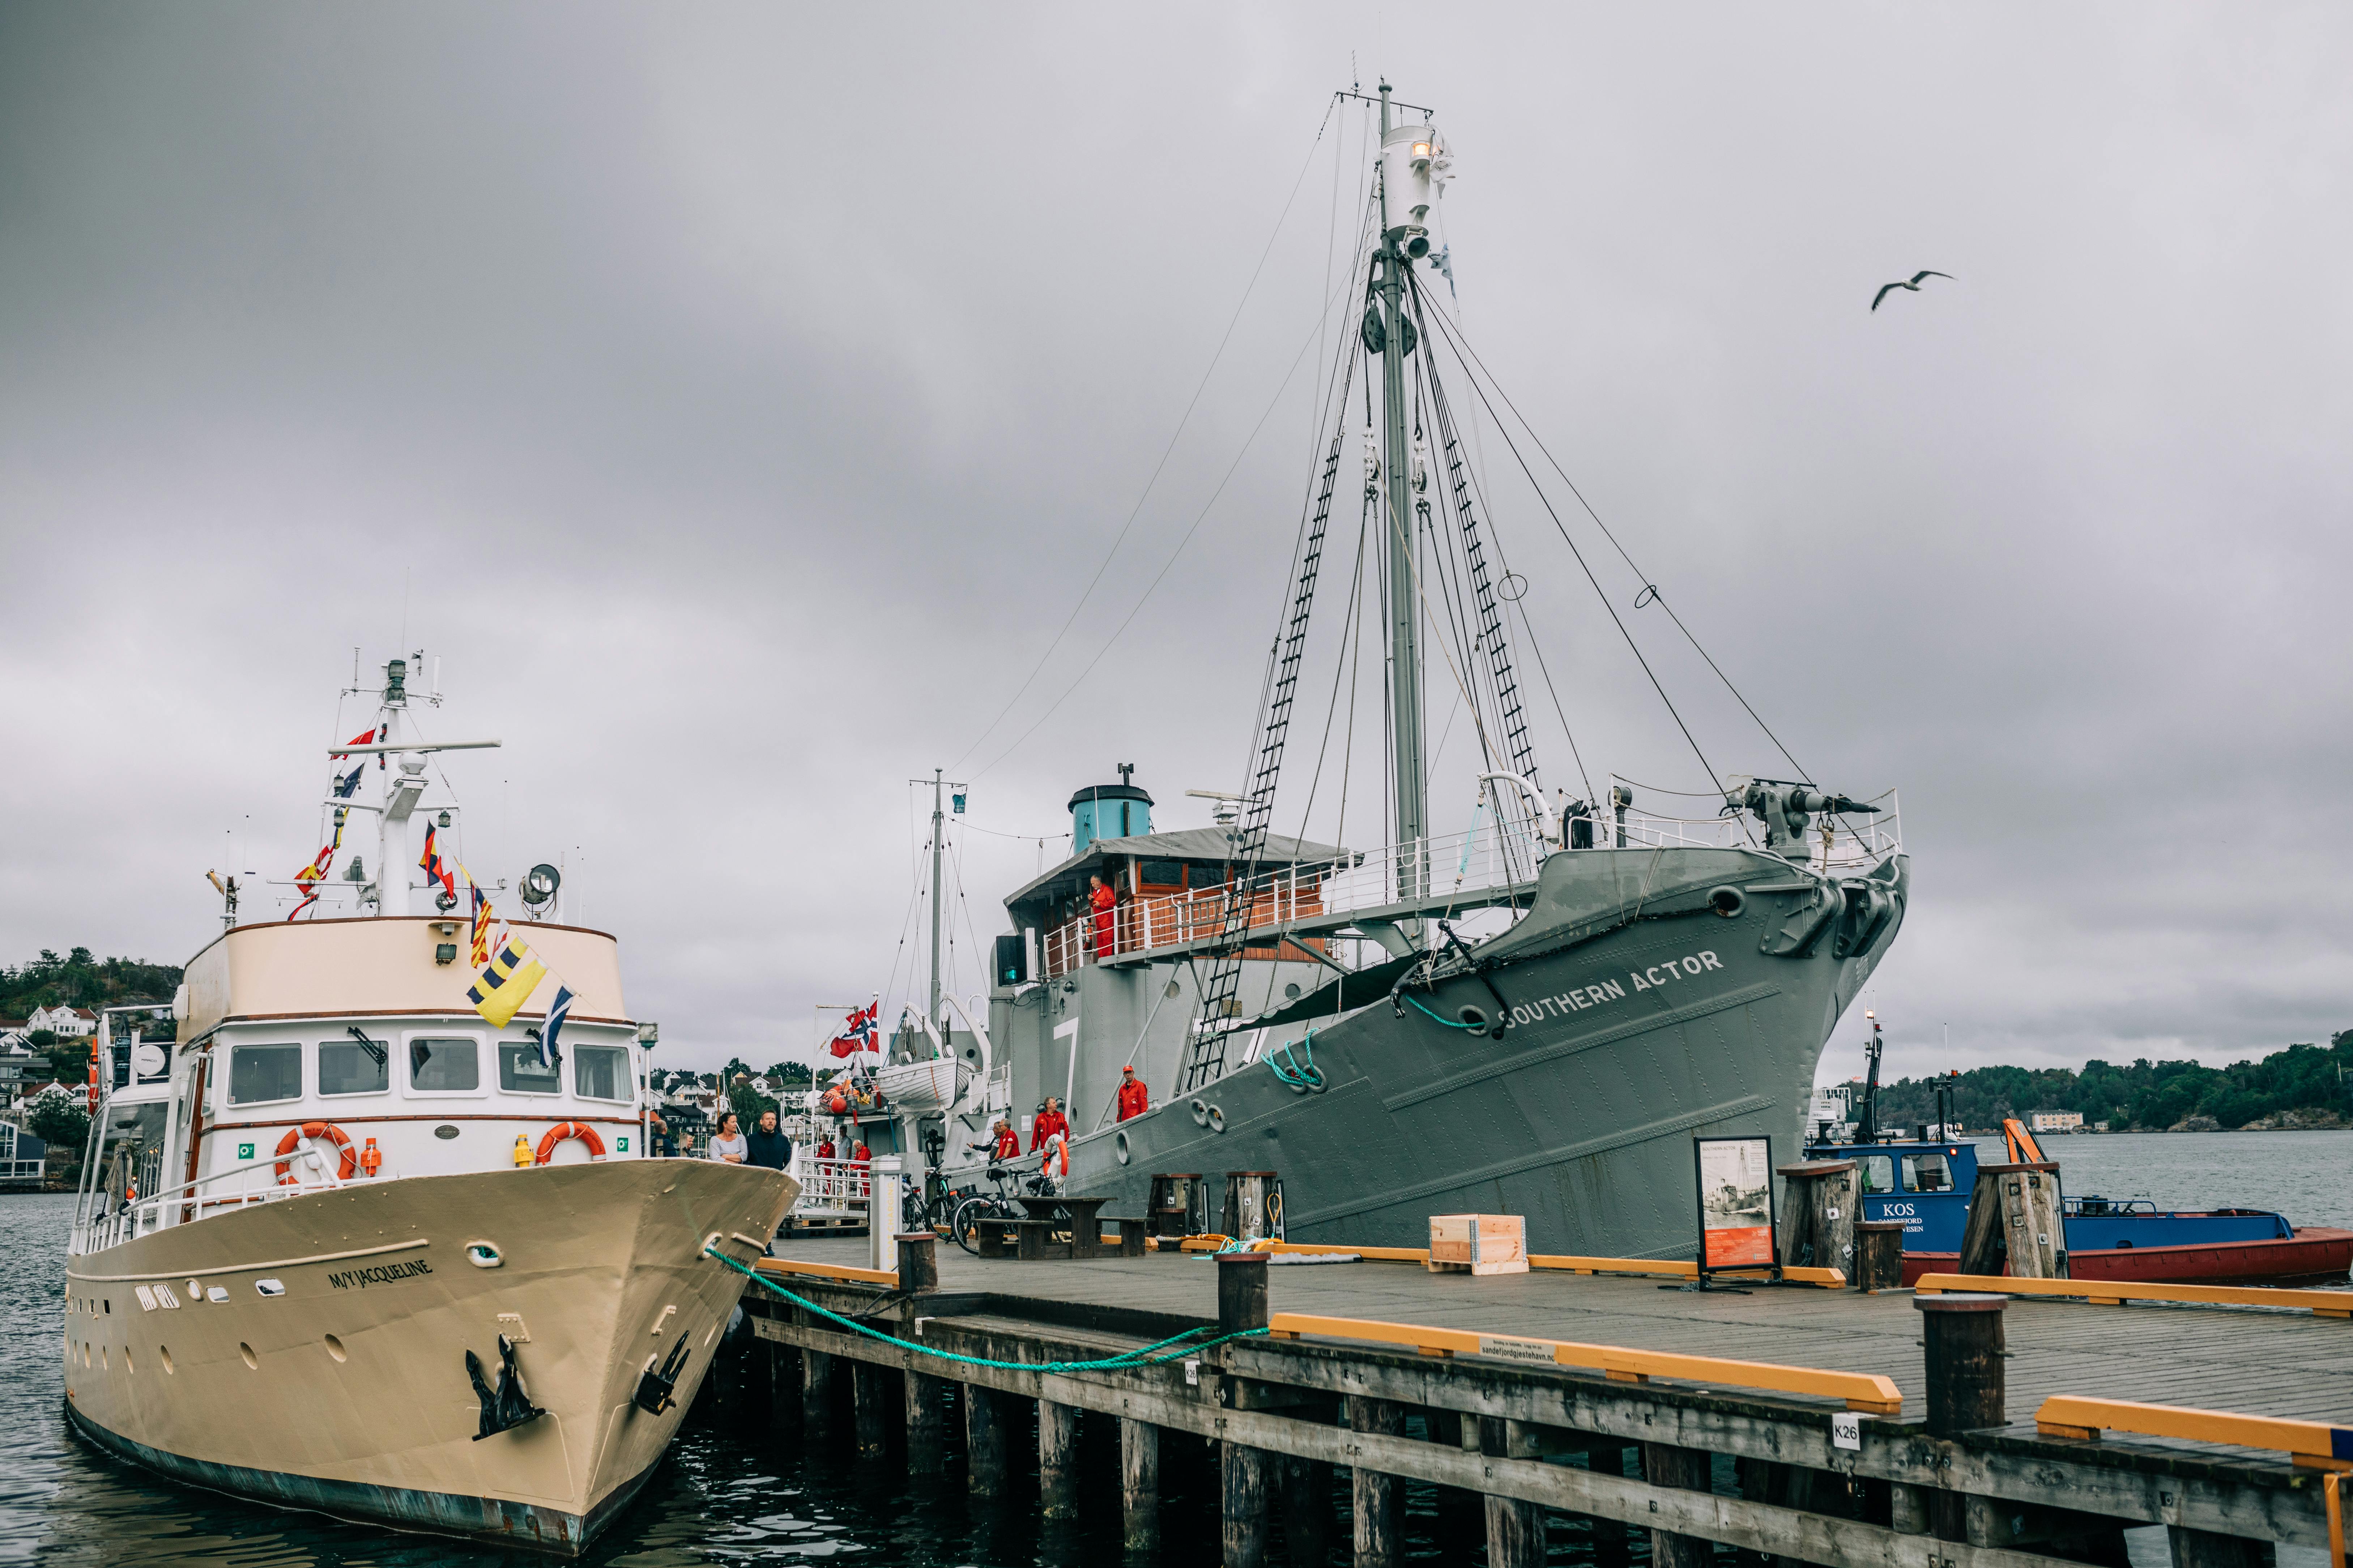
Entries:
[[[2151,1197],[2184,1208],[2238,1204],[2278,1208],[2299,1225],[2353,1225],[2353,1133],[2075,1135],[2049,1140],[2049,1152],[2066,1168],[2068,1192]],[[548,1561],[238,1502],[162,1481],[73,1436],[59,1366],[71,1211],[73,1199],[61,1194],[0,1197],[0,1253],[16,1260],[0,1295],[0,1563],[525,1568]],[[1085,1446],[1087,1516],[1075,1526],[1047,1526],[1038,1521],[1035,1469],[1005,1497],[967,1500],[960,1455],[941,1483],[918,1486],[889,1465],[852,1462],[847,1420],[831,1439],[802,1441],[793,1427],[788,1420],[781,1429],[760,1429],[711,1415],[706,1403],[588,1561],[612,1568],[833,1559],[875,1568],[1120,1561],[1115,1443]],[[1198,1450],[1188,1455],[1172,1443],[1160,1519],[1158,1563],[1217,1561],[1217,1474]],[[1447,1542],[1478,1540],[1478,1533],[1475,1512],[1447,1516],[1428,1488],[1407,1488],[1414,1559],[1464,1561]],[[2139,1535],[2134,1559],[2165,1561],[2162,1533],[2153,1542]],[[1553,1530],[1551,1556],[1553,1563],[1591,1561],[1574,1530]],[[2282,1561],[2289,1556],[2304,1554],[2282,1554]],[[1280,1544],[1275,1561],[1282,1561]]]

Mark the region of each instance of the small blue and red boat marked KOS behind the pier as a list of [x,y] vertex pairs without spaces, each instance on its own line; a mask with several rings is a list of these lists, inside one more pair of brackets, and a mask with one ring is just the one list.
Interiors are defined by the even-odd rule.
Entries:
[[[1977,1192],[1977,1145],[1948,1135],[1953,1126],[1944,1091],[1937,1110],[1946,1121],[1925,1124],[1913,1138],[1871,1138],[1878,1128],[1880,1081],[1875,1018],[1866,1051],[1871,1077],[1857,1138],[1817,1138],[1807,1145],[1807,1159],[1852,1159],[1861,1166],[1861,1218],[1904,1222],[1908,1286],[1922,1274],[1951,1274],[1960,1265],[1960,1234],[1969,1220],[1969,1194]],[[2002,1128],[2012,1161],[2047,1159],[2019,1121],[2005,1121]],[[1821,1131],[1828,1133],[1828,1126]],[[2268,1208],[2158,1208],[2148,1199],[2064,1197],[2064,1187],[2061,1204],[2071,1279],[2344,1284],[2353,1267],[2353,1229],[2299,1229]]]

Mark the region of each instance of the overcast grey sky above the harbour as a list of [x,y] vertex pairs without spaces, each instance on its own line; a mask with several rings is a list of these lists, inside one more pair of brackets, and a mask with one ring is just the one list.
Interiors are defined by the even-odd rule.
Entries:
[[[969,994],[1073,788],[1240,785],[1381,73],[1501,388],[1805,769],[1901,788],[1897,1072],[2353,1027],[2341,7],[9,5],[0,959],[181,961],[207,867],[318,849],[353,649],[424,649],[506,743],[466,860],[562,856],[675,1065],[896,997],[934,766]],[[1588,769],[1704,788],[1480,458]]]

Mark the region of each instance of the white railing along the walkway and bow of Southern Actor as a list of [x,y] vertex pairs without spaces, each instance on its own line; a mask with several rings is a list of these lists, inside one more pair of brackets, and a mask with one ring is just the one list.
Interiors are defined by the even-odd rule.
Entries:
[[[1824,875],[1864,872],[1904,849],[1897,820],[1894,790],[1878,797],[1882,816],[1840,816],[1831,823],[1831,839],[1821,827],[1809,835],[1807,865]],[[1588,818],[1593,830],[1591,849],[1762,849],[1765,830],[1753,816],[1706,816],[1673,818],[1645,811],[1598,811]],[[1562,837],[1577,842],[1579,823],[1562,825]],[[1560,851],[1546,844],[1525,823],[1501,827],[1482,823],[1471,832],[1457,832],[1414,844],[1393,844],[1334,860],[1301,863],[1254,877],[1245,896],[1249,898],[1252,947],[1268,947],[1280,940],[1285,926],[1322,914],[1346,914],[1351,910],[1379,910],[1400,903],[1442,907],[1457,898],[1478,898],[1534,882],[1537,867]],[[1071,973],[1082,964],[1094,964],[1122,952],[1148,952],[1176,943],[1198,943],[1219,936],[1226,917],[1226,889],[1200,889],[1193,893],[1158,893],[1129,898],[1106,917],[1080,914],[1047,931],[1040,940],[1040,966],[1045,980]],[[1313,938],[1308,938],[1313,940]],[[1306,961],[1294,947],[1282,947],[1285,957]]]

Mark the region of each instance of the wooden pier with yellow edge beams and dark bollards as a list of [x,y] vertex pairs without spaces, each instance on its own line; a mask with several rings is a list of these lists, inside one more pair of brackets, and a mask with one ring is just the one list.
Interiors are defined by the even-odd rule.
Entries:
[[[786,1251],[755,1267],[807,1307],[744,1298],[779,1406],[819,1410],[849,1378],[859,1453],[939,1474],[953,1403],[967,1483],[998,1493],[1009,1434],[1031,1432],[1007,1401],[1031,1401],[1049,1519],[1089,1502],[1080,1434],[1115,1427],[1132,1547],[1158,1530],[1165,1436],[1207,1439],[1228,1568],[1275,1537],[1292,1563],[1388,1568],[1400,1481],[1454,1497],[1459,1561],[1482,1549],[1489,1568],[1546,1561],[1562,1528],[1591,1530],[1600,1568],[1635,1540],[1678,1568],[1715,1544],[1873,1568],[2125,1563],[2141,1526],[2167,1530],[2174,1563],[2266,1563],[2271,1542],[2332,1549],[2353,1472],[2353,1321],[2313,1312],[2315,1293],[1701,1293],[1264,1253],[974,1260],[946,1241],[875,1276],[861,1244]],[[1073,1366],[1099,1361],[1115,1366]]]

